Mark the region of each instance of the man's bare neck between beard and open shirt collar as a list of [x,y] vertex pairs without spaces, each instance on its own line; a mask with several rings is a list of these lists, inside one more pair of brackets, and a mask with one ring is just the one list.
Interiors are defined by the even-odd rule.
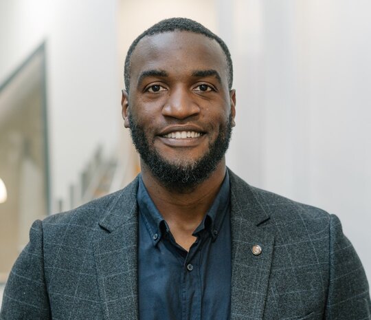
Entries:
[[[169,190],[155,178],[144,162],[141,162],[141,167],[142,179],[150,198],[168,223],[175,240],[180,244],[181,240],[178,239],[188,237],[188,244],[192,244],[190,237],[214,202],[223,182],[225,159],[221,160],[209,178],[187,192]],[[183,248],[188,250],[188,244],[183,244]]]

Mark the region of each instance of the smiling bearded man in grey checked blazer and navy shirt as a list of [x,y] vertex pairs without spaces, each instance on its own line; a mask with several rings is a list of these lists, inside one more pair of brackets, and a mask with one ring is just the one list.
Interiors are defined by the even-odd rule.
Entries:
[[122,116],[142,173],[34,222],[1,319],[371,319],[337,217],[226,168],[232,80],[225,43],[195,21],[133,42]]

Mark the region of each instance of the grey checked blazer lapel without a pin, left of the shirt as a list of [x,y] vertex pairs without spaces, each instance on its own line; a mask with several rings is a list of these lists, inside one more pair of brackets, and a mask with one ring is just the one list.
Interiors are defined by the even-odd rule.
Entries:
[[137,179],[115,193],[93,243],[106,320],[138,319]]

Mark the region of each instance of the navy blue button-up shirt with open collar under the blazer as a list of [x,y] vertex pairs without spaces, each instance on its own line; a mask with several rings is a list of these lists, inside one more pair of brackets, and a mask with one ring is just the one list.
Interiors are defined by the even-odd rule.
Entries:
[[139,178],[139,319],[227,320],[231,299],[229,177],[193,235],[189,252]]

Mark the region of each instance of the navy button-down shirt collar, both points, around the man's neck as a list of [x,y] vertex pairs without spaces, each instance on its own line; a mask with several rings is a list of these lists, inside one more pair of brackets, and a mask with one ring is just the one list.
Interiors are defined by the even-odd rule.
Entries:
[[[193,235],[206,229],[210,231],[212,239],[216,239],[221,229],[225,213],[229,207],[229,191],[229,174],[228,171],[225,171],[225,177],[221,184],[221,189],[219,189],[212,206],[207,211],[203,221],[196,228]],[[142,175],[139,175],[137,202],[139,206],[139,214],[142,215],[144,224],[152,238],[153,245],[156,246],[161,237],[164,236],[164,232],[168,232],[170,229],[164,220],[164,217],[162,217],[161,213],[153,203],[153,200],[150,198],[142,180]]]

